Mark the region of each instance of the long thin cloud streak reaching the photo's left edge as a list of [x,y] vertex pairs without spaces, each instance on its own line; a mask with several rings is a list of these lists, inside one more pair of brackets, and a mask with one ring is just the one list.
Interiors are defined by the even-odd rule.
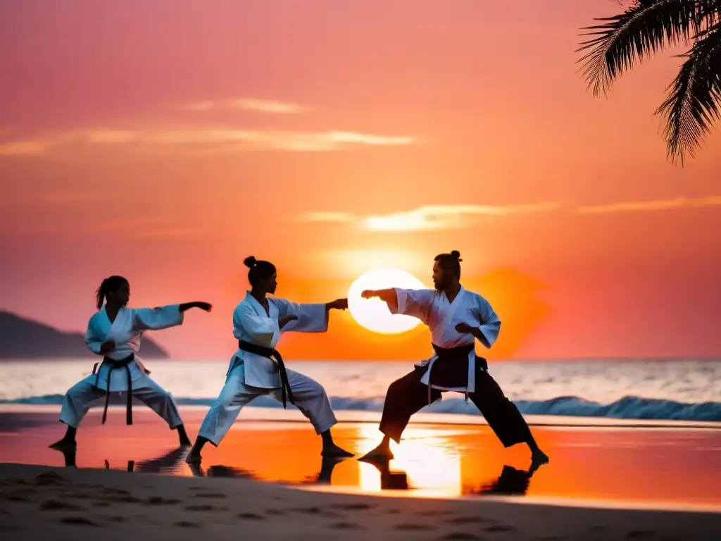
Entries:
[[283,150],[322,152],[353,146],[407,146],[419,142],[413,136],[382,136],[350,131],[257,131],[236,128],[193,128],[174,130],[74,130],[39,137],[32,141],[8,141],[0,144],[0,156],[47,154],[71,145],[105,147],[196,146],[216,151]]

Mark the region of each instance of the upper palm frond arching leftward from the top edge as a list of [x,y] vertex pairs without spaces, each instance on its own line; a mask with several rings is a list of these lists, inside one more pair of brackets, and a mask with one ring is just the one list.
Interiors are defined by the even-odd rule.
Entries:
[[[701,4],[716,4],[704,1]],[[689,43],[702,25],[699,3],[694,0],[638,0],[623,14],[594,19],[602,25],[585,27],[593,36],[576,50],[588,51],[578,62],[593,95],[609,91],[619,75],[638,59],[668,45]]]

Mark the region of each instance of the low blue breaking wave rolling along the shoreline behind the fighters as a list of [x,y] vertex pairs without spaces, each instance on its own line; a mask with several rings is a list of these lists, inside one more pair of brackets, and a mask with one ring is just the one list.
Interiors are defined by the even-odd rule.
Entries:
[[[215,402],[215,398],[175,397],[178,405],[207,405]],[[383,409],[383,397],[353,398],[331,397],[336,410],[380,412]],[[63,395],[42,395],[19,398],[17,400],[0,400],[0,404],[35,404],[61,405]],[[111,397],[110,403],[123,405],[123,397]],[[721,403],[681,403],[674,400],[641,398],[626,396],[610,404],[601,404],[584,400],[575,396],[561,396],[550,400],[516,400],[521,413],[527,415],[558,415],[561,417],[601,417],[614,419],[639,419],[657,421],[721,421]],[[256,408],[282,408],[282,405],[271,397],[258,397],[252,405]],[[288,405],[288,408],[291,408]],[[443,400],[423,408],[428,413],[462,413],[480,415],[470,401],[462,397],[444,397]]]

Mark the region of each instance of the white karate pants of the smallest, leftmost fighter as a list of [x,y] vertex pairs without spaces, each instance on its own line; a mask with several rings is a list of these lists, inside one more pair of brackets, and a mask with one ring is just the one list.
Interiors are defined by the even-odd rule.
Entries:
[[[60,420],[63,423],[77,428],[90,406],[105,397],[105,391],[95,387],[95,381],[95,374],[91,374],[68,389],[60,412]],[[133,398],[137,398],[160,415],[171,430],[182,425],[180,412],[173,396],[147,374],[143,374],[140,379],[133,382]]]

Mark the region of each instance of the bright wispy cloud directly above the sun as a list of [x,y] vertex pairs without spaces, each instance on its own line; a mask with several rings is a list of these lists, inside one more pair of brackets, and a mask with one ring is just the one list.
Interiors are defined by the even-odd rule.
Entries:
[[410,211],[356,216],[340,212],[306,214],[306,221],[350,223],[366,231],[412,232],[458,229],[469,226],[483,216],[512,216],[555,211],[560,203],[549,201],[528,205],[428,205]]

